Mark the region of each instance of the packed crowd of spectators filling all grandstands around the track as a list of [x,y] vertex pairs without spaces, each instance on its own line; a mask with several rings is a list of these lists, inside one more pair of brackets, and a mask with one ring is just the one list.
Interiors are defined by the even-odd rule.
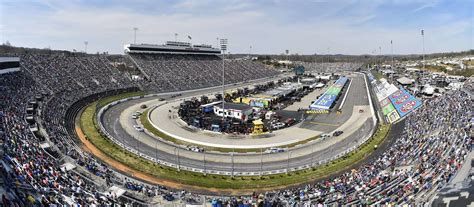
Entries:
[[[206,72],[210,69],[206,67],[221,66],[222,60],[217,58],[200,60],[209,62],[204,64],[193,63],[195,57],[182,57],[164,61],[168,62],[165,64],[167,66],[157,66],[161,63],[148,59],[148,56],[134,58],[145,72],[150,73],[148,75],[156,78],[155,82],[172,82],[169,90],[208,87],[220,83],[219,78],[209,79],[210,83],[206,83],[205,77],[187,75],[199,73],[207,77],[209,74]],[[232,71],[229,76],[234,78],[229,80],[234,82],[271,75],[260,69],[255,69],[260,71],[255,74],[260,75],[252,74],[253,71],[249,69],[252,65],[248,64],[256,63],[226,63],[232,63],[228,65],[234,67],[229,69]],[[146,65],[149,65],[148,69],[144,68],[148,67]],[[157,67],[165,69],[152,73],[155,71],[152,68]],[[67,132],[66,111],[74,102],[102,91],[139,85],[111,67],[106,58],[27,55],[22,57],[22,69],[21,72],[0,75],[0,141],[3,153],[0,170],[5,184],[5,193],[2,195],[4,206],[64,203],[110,205],[118,200],[104,192],[113,184],[120,184],[132,194],[144,198],[172,196],[186,202],[201,202],[199,195],[185,191],[171,192],[162,186],[121,177],[82,152]],[[216,70],[211,74],[220,77]],[[194,78],[192,82],[190,78]],[[472,91],[472,82],[467,82],[465,88]],[[39,104],[37,111],[49,135],[46,137],[33,134],[30,124],[25,120],[27,103],[38,94],[44,94],[44,101]],[[374,162],[330,180],[260,195],[209,197],[207,200],[216,206],[425,202],[436,189],[453,178],[471,150],[468,132],[472,127],[472,105],[471,98],[463,90],[425,101],[423,107],[405,120],[401,137]],[[45,143],[52,143],[54,147],[45,147]],[[51,155],[51,150],[45,148],[57,148],[58,154]],[[77,169],[62,167],[67,160],[73,160]]]

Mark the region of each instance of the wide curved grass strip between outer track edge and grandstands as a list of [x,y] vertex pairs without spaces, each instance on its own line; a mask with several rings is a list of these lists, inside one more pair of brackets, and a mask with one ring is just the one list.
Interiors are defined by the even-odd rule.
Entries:
[[200,173],[177,171],[172,168],[156,165],[144,158],[138,157],[107,138],[103,137],[97,130],[94,119],[95,111],[98,105],[103,106],[107,102],[118,100],[126,97],[120,95],[103,99],[100,102],[90,104],[81,114],[80,123],[84,134],[87,138],[103,153],[111,158],[129,166],[130,168],[146,173],[157,178],[175,181],[182,184],[219,188],[219,189],[261,189],[271,187],[283,187],[293,184],[306,183],[314,179],[327,177],[333,173],[337,173],[350,166],[360,162],[374,151],[374,145],[380,145],[390,130],[390,125],[381,126],[372,138],[354,152],[331,161],[325,165],[313,169],[301,170],[289,174],[279,174],[270,176],[242,176],[231,178],[229,176],[207,175]]

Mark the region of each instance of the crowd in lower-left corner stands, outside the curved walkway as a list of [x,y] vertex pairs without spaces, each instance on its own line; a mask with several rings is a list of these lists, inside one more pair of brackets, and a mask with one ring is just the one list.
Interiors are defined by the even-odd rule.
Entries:
[[41,146],[45,139],[30,131],[25,109],[40,90],[43,89],[25,73],[0,76],[3,206],[109,203],[100,199],[90,180],[61,169],[59,160]]

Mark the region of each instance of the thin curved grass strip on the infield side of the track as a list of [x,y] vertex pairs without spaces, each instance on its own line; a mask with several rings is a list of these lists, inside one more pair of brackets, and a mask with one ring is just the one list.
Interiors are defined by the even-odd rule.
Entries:
[[[232,148],[209,147],[209,146],[197,145],[197,144],[194,144],[194,143],[189,143],[189,142],[185,142],[185,141],[182,141],[182,140],[178,140],[178,139],[176,139],[172,136],[169,136],[169,135],[163,133],[161,130],[153,127],[153,125],[148,120],[149,111],[150,111],[150,109],[145,110],[143,112],[143,115],[140,116],[140,122],[142,123],[143,127],[145,129],[147,129],[149,132],[151,132],[152,134],[154,134],[155,136],[161,137],[164,140],[176,143],[178,145],[193,145],[193,146],[201,147],[201,148],[205,149],[206,151],[217,151],[217,152],[240,152],[240,153],[244,153],[244,152],[260,152],[260,150],[262,150],[260,148],[232,149]],[[290,147],[294,147],[296,145],[308,143],[308,142],[310,142],[312,140],[315,140],[319,137],[320,136],[314,136],[314,137],[310,137],[308,139],[305,139],[305,140],[302,140],[302,141],[299,141],[299,142],[295,142],[295,143],[288,144],[288,145],[281,145],[281,146],[277,146],[277,147],[279,147],[279,148],[287,148],[287,147],[290,148]],[[263,149],[263,150],[265,150],[265,149]]]

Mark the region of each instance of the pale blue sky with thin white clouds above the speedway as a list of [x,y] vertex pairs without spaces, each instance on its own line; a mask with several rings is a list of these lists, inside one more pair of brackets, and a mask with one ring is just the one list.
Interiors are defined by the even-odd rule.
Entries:
[[[230,53],[421,54],[473,49],[472,0],[0,0],[0,42],[122,54],[124,44]],[[188,38],[191,37],[191,39]],[[393,42],[391,44],[390,42]]]

